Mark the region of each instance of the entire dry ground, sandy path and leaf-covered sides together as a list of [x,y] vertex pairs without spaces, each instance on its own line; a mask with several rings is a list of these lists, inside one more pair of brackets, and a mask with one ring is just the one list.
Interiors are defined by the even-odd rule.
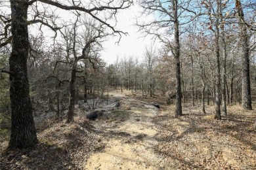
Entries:
[[215,120],[213,107],[201,114],[187,104],[175,118],[175,107],[158,98],[112,97],[120,107],[95,121],[81,110],[73,124],[47,120],[34,148],[10,151],[1,140],[0,169],[256,169],[255,110],[230,106]]

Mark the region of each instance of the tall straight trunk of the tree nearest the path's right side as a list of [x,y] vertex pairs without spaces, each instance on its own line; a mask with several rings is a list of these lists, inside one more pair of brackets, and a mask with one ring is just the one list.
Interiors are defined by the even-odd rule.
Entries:
[[173,18],[174,18],[174,39],[175,39],[175,73],[176,73],[176,108],[175,117],[182,116],[182,105],[181,105],[181,61],[180,61],[180,39],[179,39],[179,20],[178,20],[178,1],[172,1],[173,5]]

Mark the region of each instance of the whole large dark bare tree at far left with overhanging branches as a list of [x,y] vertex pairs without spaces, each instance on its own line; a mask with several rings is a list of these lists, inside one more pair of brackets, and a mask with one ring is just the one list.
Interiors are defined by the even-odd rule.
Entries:
[[[44,14],[47,12],[40,12],[35,14],[30,12],[32,20],[28,18],[28,9],[37,9],[38,5],[45,4],[49,7],[56,7],[62,10],[77,10],[87,13],[98,22],[106,25],[112,32],[119,33],[114,26],[108,24],[108,18],[112,18],[119,9],[126,9],[130,7],[131,1],[110,1],[104,3],[100,1],[96,4],[89,4],[83,1],[72,1],[68,3],[60,3],[60,1],[52,0],[10,0],[6,2],[6,6],[11,9],[11,17],[7,16],[6,22],[8,23],[7,31],[11,28],[11,33],[1,34],[5,40],[1,42],[1,46],[12,41],[12,52],[9,58],[9,74],[10,74],[10,98],[11,98],[11,112],[12,112],[12,127],[11,127],[11,139],[9,142],[9,148],[26,148],[33,146],[37,143],[37,136],[35,133],[35,124],[32,116],[32,103],[30,101],[30,86],[28,83],[27,72],[27,59],[28,59],[28,25],[39,23],[51,27],[54,31],[59,29],[56,24],[49,24],[45,18],[42,20]],[[47,8],[43,9],[46,10]],[[34,10],[40,11],[40,9]],[[106,12],[105,12],[106,11]],[[109,14],[108,16],[104,15]],[[102,17],[103,16],[103,17]],[[106,16],[106,18],[104,17]],[[3,18],[3,17],[1,17]],[[54,18],[51,17],[53,20]],[[5,31],[4,31],[5,32]],[[2,39],[1,37],[1,39]]]

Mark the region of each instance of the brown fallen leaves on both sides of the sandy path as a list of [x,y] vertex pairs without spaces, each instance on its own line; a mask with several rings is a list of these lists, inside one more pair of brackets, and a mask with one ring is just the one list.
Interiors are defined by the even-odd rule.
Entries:
[[[121,104],[146,110],[146,103],[138,104],[135,99],[124,100]],[[201,114],[200,106],[184,106],[183,109],[184,116],[178,119],[174,117],[174,106],[161,104],[161,110],[153,117],[154,127],[158,131],[154,136],[158,141],[154,152],[159,156],[156,157],[159,159],[156,160],[159,162],[156,167],[256,169],[255,110],[245,111],[237,106],[228,106],[228,116],[223,116],[223,120],[216,120],[212,118],[214,107],[207,106],[207,114]],[[129,112],[122,116],[126,114]],[[136,124],[141,124],[142,120],[146,120],[146,115],[144,118],[131,119]],[[148,142],[144,139],[146,135],[137,135],[136,140],[131,141],[131,135],[127,131],[117,131],[122,121],[101,121],[104,128],[109,124],[113,125],[110,133],[126,138],[123,139],[127,141],[125,144]],[[97,135],[101,130],[92,126],[85,118],[76,118],[74,124],[54,122],[51,127],[38,133],[40,143],[35,148],[1,150],[0,169],[85,169],[89,156],[102,152],[105,148],[104,141],[107,139],[99,139]]]

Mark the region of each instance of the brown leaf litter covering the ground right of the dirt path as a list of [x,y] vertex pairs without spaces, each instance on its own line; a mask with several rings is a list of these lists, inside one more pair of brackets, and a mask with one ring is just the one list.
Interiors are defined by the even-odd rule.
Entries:
[[[212,113],[213,107],[207,112]],[[184,116],[162,112],[155,118],[159,143],[155,151],[169,163],[169,169],[256,169],[255,112],[228,107],[223,120],[184,109]],[[184,122],[182,133],[179,133]],[[189,126],[188,126],[189,124]]]

